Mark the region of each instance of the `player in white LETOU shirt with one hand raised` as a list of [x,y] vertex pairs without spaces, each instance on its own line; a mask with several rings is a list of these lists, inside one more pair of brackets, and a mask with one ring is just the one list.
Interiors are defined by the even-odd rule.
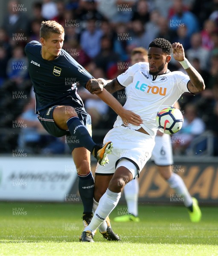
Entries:
[[[180,62],[188,75],[168,70],[172,51],[174,59]],[[151,157],[157,133],[157,112],[166,106],[173,106],[184,92],[197,93],[205,88],[201,75],[185,58],[182,44],[171,45],[164,38],[157,38],[149,44],[148,63],[134,64],[112,81],[91,79],[86,88],[97,94],[103,87],[113,93],[127,86],[130,87],[130,95],[124,108],[140,115],[142,123],[131,125],[129,120],[117,116],[113,129],[106,134],[104,140],[113,141],[113,152],[109,155],[107,166],[97,164],[95,186],[97,182],[99,191],[96,189],[98,192],[94,199],[96,202],[100,200],[80,241],[93,242],[96,229],[118,204],[124,186],[140,174]],[[108,189],[101,197],[101,187],[105,189],[107,182]]]

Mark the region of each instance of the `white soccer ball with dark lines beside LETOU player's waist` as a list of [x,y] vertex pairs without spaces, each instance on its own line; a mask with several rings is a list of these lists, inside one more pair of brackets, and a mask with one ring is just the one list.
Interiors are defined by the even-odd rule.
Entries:
[[178,108],[167,107],[157,112],[157,128],[165,134],[174,134],[183,126],[183,115]]

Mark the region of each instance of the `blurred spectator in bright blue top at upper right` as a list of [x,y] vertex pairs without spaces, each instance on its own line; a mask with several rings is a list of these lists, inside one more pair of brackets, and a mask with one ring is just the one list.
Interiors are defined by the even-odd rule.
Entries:
[[179,26],[187,26],[187,35],[191,35],[199,31],[198,19],[191,12],[187,11],[183,5],[183,0],[174,0],[173,5],[174,15],[170,17],[169,26],[172,31],[175,31]]

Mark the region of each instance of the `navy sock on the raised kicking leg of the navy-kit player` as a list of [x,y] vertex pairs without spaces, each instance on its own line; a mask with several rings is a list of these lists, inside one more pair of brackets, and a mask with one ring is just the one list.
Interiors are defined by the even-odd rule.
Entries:
[[74,140],[78,141],[82,147],[87,148],[92,153],[96,143],[93,142],[92,137],[85,126],[80,122],[78,116],[70,117],[67,120],[67,127]]

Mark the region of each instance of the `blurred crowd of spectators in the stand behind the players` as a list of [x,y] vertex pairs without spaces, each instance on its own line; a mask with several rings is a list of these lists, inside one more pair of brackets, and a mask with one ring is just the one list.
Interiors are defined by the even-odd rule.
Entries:
[[[50,137],[35,122],[24,47],[40,40],[43,20],[61,23],[63,49],[95,78],[114,79],[128,68],[131,50],[148,49],[155,38],[182,43],[206,90],[183,94],[179,100],[185,122],[172,137],[174,153],[190,154],[193,140],[207,133],[212,134],[211,154],[218,155],[218,0],[36,0],[31,10],[10,0],[0,24],[0,152],[11,153],[15,148],[30,153],[66,152],[64,139]],[[169,69],[185,73],[173,59]],[[93,130],[112,128],[116,114],[84,88],[79,93],[92,116]],[[124,91],[114,96],[125,103]],[[94,140],[102,141],[105,134],[99,134]],[[196,144],[194,153],[203,154],[207,147],[206,137]]]

